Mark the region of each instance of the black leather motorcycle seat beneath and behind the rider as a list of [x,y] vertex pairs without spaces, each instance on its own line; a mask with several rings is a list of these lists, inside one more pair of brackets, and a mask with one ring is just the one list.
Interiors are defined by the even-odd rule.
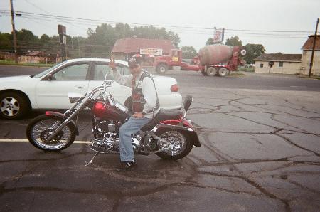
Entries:
[[143,132],[150,131],[156,124],[159,124],[165,120],[180,120],[181,119],[182,110],[166,110],[160,109],[156,116],[150,120],[150,122],[146,123],[141,130]]

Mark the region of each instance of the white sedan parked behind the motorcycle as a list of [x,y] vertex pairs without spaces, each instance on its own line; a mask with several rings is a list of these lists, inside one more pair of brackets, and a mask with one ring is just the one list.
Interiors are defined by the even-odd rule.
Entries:
[[[71,106],[68,93],[84,95],[102,85],[110,70],[109,62],[109,59],[100,58],[66,60],[37,75],[0,78],[0,115],[17,119],[31,109],[68,109]],[[127,62],[115,62],[122,75],[130,73]],[[181,108],[182,97],[176,79],[154,76],[154,83],[161,108]],[[114,82],[109,91],[118,102],[128,104],[131,88]]]

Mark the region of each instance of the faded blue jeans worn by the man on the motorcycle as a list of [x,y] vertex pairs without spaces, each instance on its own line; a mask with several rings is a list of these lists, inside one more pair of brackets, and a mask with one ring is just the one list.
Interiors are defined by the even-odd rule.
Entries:
[[134,159],[134,152],[132,149],[131,135],[138,132],[144,124],[151,119],[142,117],[130,117],[119,129],[120,139],[120,161],[132,161]]

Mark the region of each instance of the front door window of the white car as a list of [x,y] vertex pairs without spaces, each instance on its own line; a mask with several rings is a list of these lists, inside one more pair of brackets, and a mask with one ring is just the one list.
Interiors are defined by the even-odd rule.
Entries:
[[86,80],[89,64],[69,65],[53,75],[54,80]]

